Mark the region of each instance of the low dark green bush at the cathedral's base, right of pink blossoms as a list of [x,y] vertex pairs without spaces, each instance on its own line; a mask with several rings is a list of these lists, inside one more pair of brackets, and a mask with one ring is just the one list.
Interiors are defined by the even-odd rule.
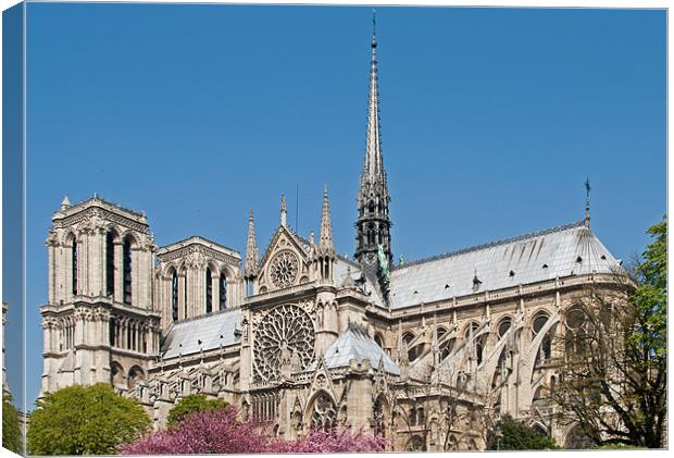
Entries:
[[538,434],[534,429],[510,416],[496,423],[496,430],[487,436],[488,450],[549,450],[558,448],[550,436]]

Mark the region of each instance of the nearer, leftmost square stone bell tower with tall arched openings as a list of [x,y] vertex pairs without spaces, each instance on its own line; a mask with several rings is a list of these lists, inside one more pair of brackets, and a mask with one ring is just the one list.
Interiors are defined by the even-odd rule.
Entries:
[[146,216],[96,195],[76,205],[65,197],[46,243],[41,394],[99,382],[133,392],[160,341]]

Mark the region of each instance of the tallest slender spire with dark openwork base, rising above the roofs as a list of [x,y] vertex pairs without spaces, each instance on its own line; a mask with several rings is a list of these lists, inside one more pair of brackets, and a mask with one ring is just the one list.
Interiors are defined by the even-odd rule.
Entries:
[[355,236],[355,259],[370,268],[377,268],[379,245],[388,263],[392,262],[390,248],[390,220],[388,218],[388,184],[382,157],[379,128],[379,88],[377,84],[377,38],[375,16],[372,18],[372,60],[370,62],[370,97],[367,114],[367,139],[365,159],[358,193],[358,230]]

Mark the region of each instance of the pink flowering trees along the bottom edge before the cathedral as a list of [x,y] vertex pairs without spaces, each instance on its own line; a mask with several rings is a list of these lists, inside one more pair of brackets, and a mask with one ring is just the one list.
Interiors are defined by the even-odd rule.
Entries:
[[383,451],[386,440],[362,432],[312,431],[299,441],[273,440],[264,425],[237,420],[235,408],[186,417],[178,425],[123,445],[122,455]]

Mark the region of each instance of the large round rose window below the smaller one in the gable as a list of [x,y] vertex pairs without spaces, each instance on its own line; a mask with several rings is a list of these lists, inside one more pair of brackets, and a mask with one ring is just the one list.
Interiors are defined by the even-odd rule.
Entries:
[[280,362],[299,362],[303,370],[313,358],[315,341],[313,322],[297,306],[278,306],[272,309],[255,330],[253,345],[257,379],[278,380]]

